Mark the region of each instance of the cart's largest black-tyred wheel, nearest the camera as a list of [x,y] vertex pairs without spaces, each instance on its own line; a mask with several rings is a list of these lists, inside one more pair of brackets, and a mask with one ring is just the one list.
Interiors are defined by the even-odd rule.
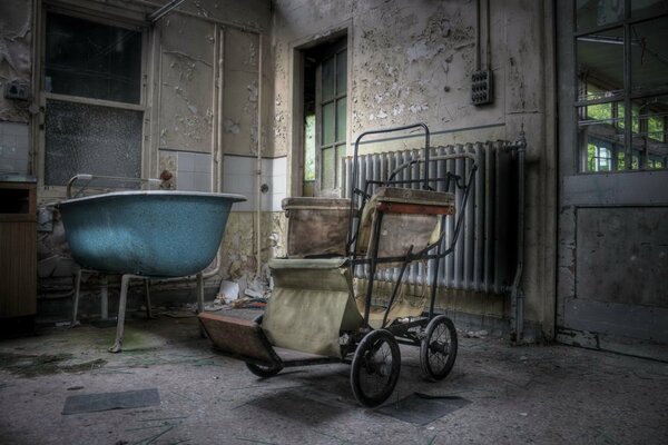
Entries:
[[[363,387],[363,379],[374,375],[379,376],[375,366],[372,366],[371,368],[367,366],[369,358],[373,358],[373,355],[375,355],[384,344],[387,345],[390,355],[385,356],[383,362],[385,362],[387,357],[392,359],[390,369],[385,368],[385,372],[390,370],[390,375],[382,376],[382,378],[386,378],[387,380],[383,384],[380,392],[367,394],[367,390]],[[369,357],[369,354],[373,350],[375,352],[372,357]],[[373,365],[373,362],[371,364]],[[372,330],[366,334],[355,349],[351,369],[351,386],[355,399],[367,407],[381,405],[394,390],[396,382],[399,380],[400,370],[401,352],[394,336],[386,329]]]

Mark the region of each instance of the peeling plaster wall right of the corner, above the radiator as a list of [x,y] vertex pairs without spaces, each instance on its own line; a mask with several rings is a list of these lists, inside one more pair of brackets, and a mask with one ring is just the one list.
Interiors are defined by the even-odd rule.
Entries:
[[[291,157],[292,52],[336,30],[348,33],[348,135],[424,122],[433,145],[514,140],[527,131],[525,318],[553,324],[553,209],[557,199],[550,0],[490,1],[490,69],[494,102],[471,103],[471,73],[480,50],[485,68],[485,2],[477,48],[474,0],[275,0],[274,148]],[[549,87],[552,87],[550,90]],[[487,127],[478,128],[475,127]],[[472,129],[473,128],[473,129]],[[418,139],[415,139],[418,140]],[[418,144],[418,142],[409,142]],[[406,148],[406,142],[377,150]],[[348,148],[348,154],[351,152]],[[296,162],[288,162],[296,168]],[[293,187],[294,189],[294,187]],[[464,305],[465,306],[465,305]],[[502,304],[469,310],[508,315]]]

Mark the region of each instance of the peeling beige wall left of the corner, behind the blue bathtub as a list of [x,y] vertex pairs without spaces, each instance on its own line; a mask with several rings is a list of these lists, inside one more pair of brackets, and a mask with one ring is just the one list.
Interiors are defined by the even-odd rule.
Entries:
[[[156,178],[163,170],[169,170],[173,176],[167,188],[227,191],[222,175],[224,155],[229,152],[254,158],[258,135],[263,134],[258,131],[257,119],[259,36],[271,40],[271,2],[188,0],[153,27],[145,22],[147,14],[167,0],[55,0],[49,3],[58,3],[62,7],[61,11],[76,11],[84,17],[90,12],[96,20],[109,20],[110,23],[127,20],[129,26],[138,24],[144,30],[143,176]],[[32,4],[37,4],[38,10],[33,11]],[[32,70],[37,69],[35,63],[39,61],[39,55],[32,53],[32,24],[45,4],[27,0],[0,2],[0,146],[3,147],[2,138],[6,136],[12,140],[24,139],[26,152],[33,154],[36,159],[43,156],[45,150],[39,127],[39,103],[43,97],[39,76],[32,78]],[[263,57],[271,59],[269,46],[265,46]],[[262,107],[265,122],[272,109],[273,82],[269,75],[272,63],[266,63],[264,81],[267,85],[263,86],[266,96]],[[2,91],[8,81],[36,88],[31,100],[6,100]],[[19,130],[21,135],[14,135]],[[264,145],[267,146],[266,140]],[[272,154],[267,149],[263,155]],[[8,164],[0,160],[2,165]],[[43,175],[43,166],[39,162],[35,162],[36,168],[28,171],[28,155],[26,160],[20,160],[26,164],[23,172],[38,177]],[[12,160],[12,168],[13,165]],[[254,174],[254,170],[248,174]],[[72,277],[78,266],[70,257],[58,210],[51,205],[63,197],[65,188],[61,187],[41,187],[38,191],[41,206],[38,288],[42,303],[49,301],[48,306],[59,307],[62,314],[67,314],[70,310]],[[234,251],[230,251],[229,258],[223,256],[226,264],[207,280],[209,290],[217,288],[220,279],[255,270],[257,235],[254,224],[247,221],[255,217],[254,212],[245,211],[235,211],[230,216],[230,229],[225,239],[233,244]],[[277,248],[281,235],[273,234],[281,233],[281,224],[279,218],[276,219],[278,214],[263,212],[261,217],[263,258],[266,260]],[[98,281],[95,278],[87,280],[84,293],[98,293]],[[191,283],[175,281],[160,285],[158,290],[186,291],[193,286]],[[51,304],[57,300],[59,304]]]

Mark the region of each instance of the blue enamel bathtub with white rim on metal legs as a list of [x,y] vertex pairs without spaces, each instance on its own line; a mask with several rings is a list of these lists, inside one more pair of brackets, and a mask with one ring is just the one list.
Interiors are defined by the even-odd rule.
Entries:
[[72,257],[84,268],[147,277],[181,277],[218,251],[240,195],[118,191],[60,204]]

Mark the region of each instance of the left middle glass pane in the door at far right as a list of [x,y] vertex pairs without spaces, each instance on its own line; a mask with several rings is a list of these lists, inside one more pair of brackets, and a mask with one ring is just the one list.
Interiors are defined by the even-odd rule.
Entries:
[[578,96],[592,99],[623,90],[623,29],[581,36],[577,41]]

